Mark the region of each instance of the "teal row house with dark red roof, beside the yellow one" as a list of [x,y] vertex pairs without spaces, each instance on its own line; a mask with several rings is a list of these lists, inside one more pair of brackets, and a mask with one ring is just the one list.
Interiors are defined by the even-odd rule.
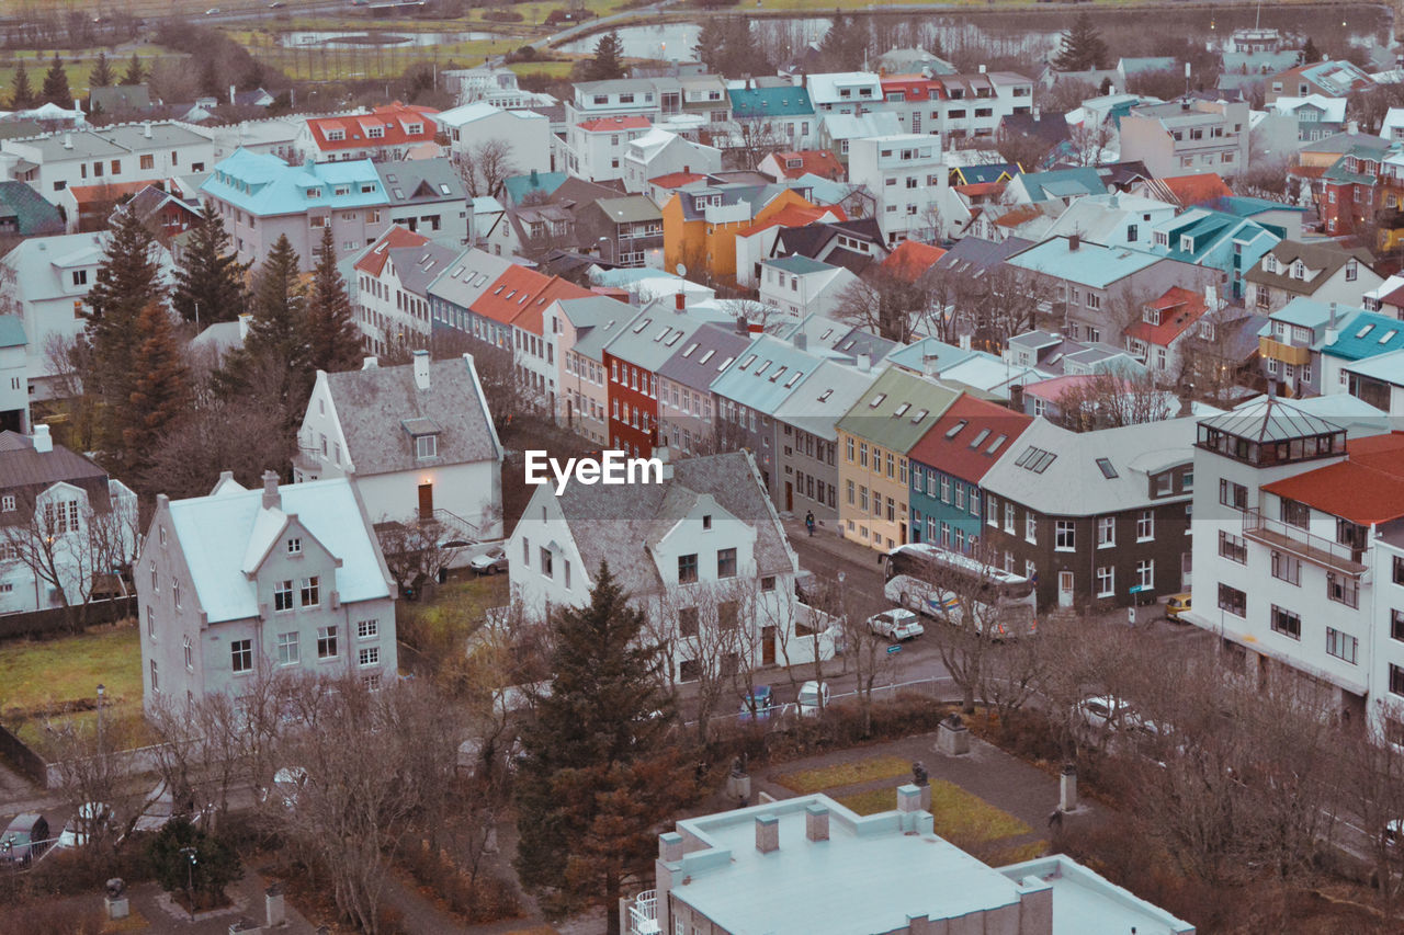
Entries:
[[[987,560],[980,550],[980,504],[987,500],[981,480],[1032,421],[1022,413],[962,393],[911,448],[911,541]],[[1012,519],[1005,525],[1012,525]]]

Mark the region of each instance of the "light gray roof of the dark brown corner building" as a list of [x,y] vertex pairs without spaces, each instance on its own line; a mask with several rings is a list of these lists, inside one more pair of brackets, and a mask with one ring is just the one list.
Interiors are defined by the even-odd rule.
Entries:
[[[981,480],[981,486],[1021,503],[1031,510],[1054,517],[1090,517],[1118,512],[1188,498],[1151,498],[1150,475],[1193,460],[1195,420],[1171,418],[1160,423],[1074,432],[1035,418]],[[1039,458],[1029,449],[1053,455],[1042,470]],[[1026,455],[1029,455],[1026,458]],[[1108,477],[1098,468],[1106,459],[1116,476]],[[1024,462],[1019,465],[1018,462]]]

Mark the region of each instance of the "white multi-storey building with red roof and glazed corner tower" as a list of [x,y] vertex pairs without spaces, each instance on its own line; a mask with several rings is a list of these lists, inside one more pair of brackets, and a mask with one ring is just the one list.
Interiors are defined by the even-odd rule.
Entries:
[[1380,431],[1279,399],[1200,423],[1186,619],[1404,743],[1404,437]]

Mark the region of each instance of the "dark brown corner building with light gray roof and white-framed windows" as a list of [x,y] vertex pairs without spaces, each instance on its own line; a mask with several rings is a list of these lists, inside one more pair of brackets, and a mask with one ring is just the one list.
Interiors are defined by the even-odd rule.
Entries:
[[1125,606],[1191,584],[1195,423],[1074,432],[1035,418],[981,479],[981,553],[1040,606]]

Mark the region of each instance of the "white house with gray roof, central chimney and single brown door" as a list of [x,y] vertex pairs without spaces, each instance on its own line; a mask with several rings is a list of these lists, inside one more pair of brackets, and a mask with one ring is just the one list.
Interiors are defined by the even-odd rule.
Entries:
[[503,445],[473,357],[317,371],[298,430],[299,483],[351,477],[375,522],[434,519],[468,542],[501,536]]

